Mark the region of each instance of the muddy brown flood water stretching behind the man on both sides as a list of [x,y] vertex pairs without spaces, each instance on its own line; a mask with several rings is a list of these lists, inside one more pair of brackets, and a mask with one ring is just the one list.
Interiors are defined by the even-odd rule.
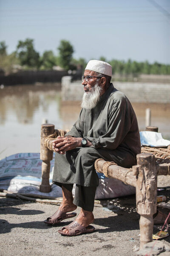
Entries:
[[[57,85],[13,86],[0,89],[0,159],[23,152],[40,152],[43,119],[58,129],[70,129],[79,102],[62,102]],[[145,130],[145,109],[151,109],[151,125],[170,140],[170,104],[133,103],[140,131]]]

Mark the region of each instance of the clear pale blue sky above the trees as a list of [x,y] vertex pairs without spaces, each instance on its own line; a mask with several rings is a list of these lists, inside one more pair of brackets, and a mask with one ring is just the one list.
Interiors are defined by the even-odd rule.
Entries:
[[8,53],[34,39],[42,54],[62,39],[74,58],[170,64],[170,0],[0,0],[0,41]]

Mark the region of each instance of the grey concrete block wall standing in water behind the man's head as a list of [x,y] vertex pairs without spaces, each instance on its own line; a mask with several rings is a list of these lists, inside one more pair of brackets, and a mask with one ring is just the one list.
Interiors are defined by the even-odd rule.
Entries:
[[[130,102],[170,103],[170,84],[113,82],[117,90],[125,93]],[[84,91],[81,81],[71,82],[71,77],[62,78],[62,100],[81,101]]]

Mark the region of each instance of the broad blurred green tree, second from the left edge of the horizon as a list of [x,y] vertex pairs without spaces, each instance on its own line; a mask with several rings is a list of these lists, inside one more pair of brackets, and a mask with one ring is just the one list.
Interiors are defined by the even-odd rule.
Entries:
[[31,68],[40,67],[40,55],[34,49],[33,39],[26,38],[25,41],[19,41],[16,52],[21,65],[26,65]]

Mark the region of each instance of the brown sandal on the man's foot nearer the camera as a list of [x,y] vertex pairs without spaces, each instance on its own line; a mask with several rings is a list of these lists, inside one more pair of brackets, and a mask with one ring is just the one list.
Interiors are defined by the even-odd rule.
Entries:
[[[64,229],[67,229],[69,233],[63,232]],[[95,227],[88,225],[87,227],[83,227],[77,221],[71,222],[66,227],[63,227],[62,230],[58,230],[58,232],[63,236],[79,236],[83,233],[91,233],[94,232]]]

